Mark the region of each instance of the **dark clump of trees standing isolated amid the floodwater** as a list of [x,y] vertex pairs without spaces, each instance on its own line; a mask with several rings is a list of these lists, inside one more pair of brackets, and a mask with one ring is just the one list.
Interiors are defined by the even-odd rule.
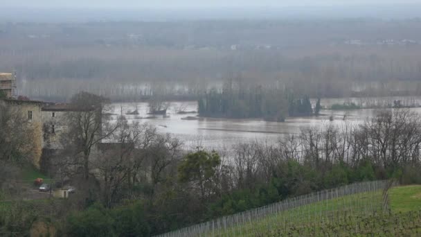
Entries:
[[224,83],[222,89],[211,89],[199,96],[199,116],[249,119],[262,118],[283,122],[288,116],[318,115],[320,99],[316,107],[307,95],[296,96],[288,89],[264,88],[261,85],[245,86],[241,83]]

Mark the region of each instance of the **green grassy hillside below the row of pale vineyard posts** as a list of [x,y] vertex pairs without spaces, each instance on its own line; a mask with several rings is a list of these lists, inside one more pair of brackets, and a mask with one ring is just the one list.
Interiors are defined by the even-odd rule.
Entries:
[[[311,231],[315,231],[314,236],[343,234],[335,226],[349,228],[348,234],[351,236],[366,236],[373,230],[382,229],[386,231],[382,232],[385,235],[416,234],[419,231],[421,236],[421,186],[391,188],[389,205],[392,212],[383,213],[382,191],[359,193],[280,211],[262,220],[252,219],[247,224],[220,229],[204,236],[305,236],[313,235]],[[401,220],[411,221],[406,223]],[[420,225],[417,225],[418,222]],[[285,229],[289,231],[283,232]]]

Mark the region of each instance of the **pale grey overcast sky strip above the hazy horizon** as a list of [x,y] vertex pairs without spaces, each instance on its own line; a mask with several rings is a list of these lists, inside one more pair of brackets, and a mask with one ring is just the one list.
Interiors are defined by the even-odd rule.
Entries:
[[218,8],[346,6],[379,3],[421,3],[421,0],[0,0],[1,6],[27,8]]

